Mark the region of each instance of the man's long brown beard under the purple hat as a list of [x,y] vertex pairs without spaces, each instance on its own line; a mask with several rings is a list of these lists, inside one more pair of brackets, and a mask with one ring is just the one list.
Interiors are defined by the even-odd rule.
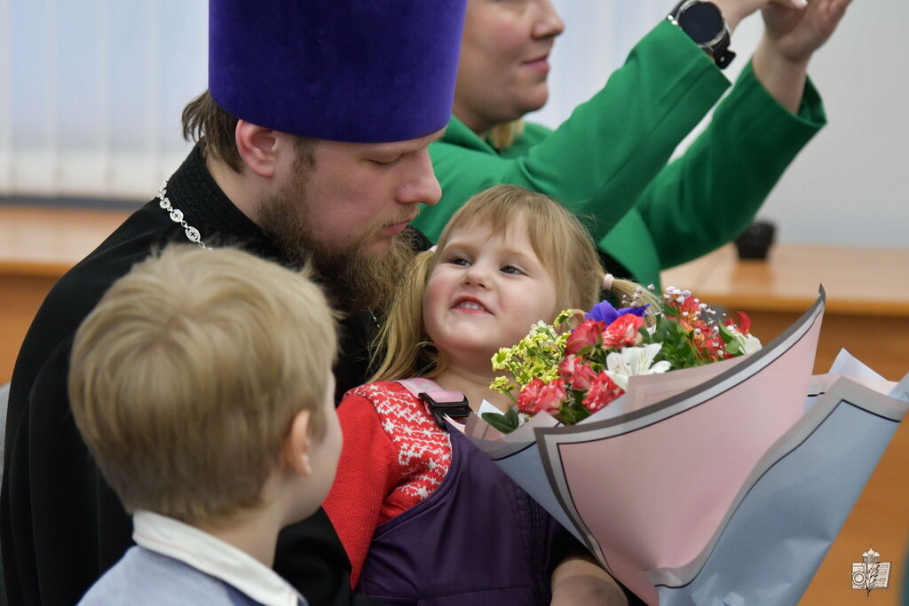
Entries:
[[388,252],[380,256],[362,252],[363,243],[373,233],[343,250],[328,250],[315,239],[313,226],[306,220],[306,173],[305,169],[298,171],[298,179],[264,201],[260,211],[263,231],[275,242],[285,265],[301,268],[312,263],[315,277],[335,309],[383,313],[413,262],[413,233],[407,229],[396,235]]

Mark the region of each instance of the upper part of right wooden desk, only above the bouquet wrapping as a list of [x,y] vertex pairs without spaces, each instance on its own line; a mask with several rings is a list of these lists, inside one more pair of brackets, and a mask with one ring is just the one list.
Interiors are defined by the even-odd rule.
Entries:
[[778,244],[767,261],[739,261],[732,245],[673,268],[663,283],[714,306],[741,310],[768,343],[827,293],[815,372],[840,348],[896,381],[909,372],[909,248]]

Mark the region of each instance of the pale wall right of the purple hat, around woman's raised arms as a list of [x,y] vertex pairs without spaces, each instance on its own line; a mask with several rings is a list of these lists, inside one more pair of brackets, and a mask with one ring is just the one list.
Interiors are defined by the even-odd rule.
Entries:
[[[553,55],[552,96],[532,116],[559,124],[663,16],[672,1],[556,0],[565,34]],[[829,124],[808,144],[764,204],[760,218],[787,242],[909,246],[909,23],[906,0],[854,0],[810,74]],[[755,15],[735,32],[734,78],[753,52]]]

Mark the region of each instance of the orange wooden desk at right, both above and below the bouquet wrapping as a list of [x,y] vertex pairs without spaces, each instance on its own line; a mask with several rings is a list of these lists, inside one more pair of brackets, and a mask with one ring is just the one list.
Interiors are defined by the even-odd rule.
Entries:
[[[827,295],[815,372],[825,373],[840,348],[892,381],[909,372],[909,249],[777,244],[767,261],[740,261],[732,245],[663,274],[704,302],[741,310],[770,342],[817,297]],[[896,605],[909,549],[909,420],[894,435],[801,603]],[[869,547],[893,562],[890,586],[870,595],[850,588],[852,562]],[[743,545],[743,549],[747,549]]]

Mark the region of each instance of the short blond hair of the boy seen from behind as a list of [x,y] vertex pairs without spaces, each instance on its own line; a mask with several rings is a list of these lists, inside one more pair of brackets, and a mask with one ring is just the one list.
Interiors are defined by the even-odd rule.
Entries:
[[76,333],[75,422],[127,511],[216,522],[261,504],[298,412],[322,439],[336,339],[306,272],[171,245]]

